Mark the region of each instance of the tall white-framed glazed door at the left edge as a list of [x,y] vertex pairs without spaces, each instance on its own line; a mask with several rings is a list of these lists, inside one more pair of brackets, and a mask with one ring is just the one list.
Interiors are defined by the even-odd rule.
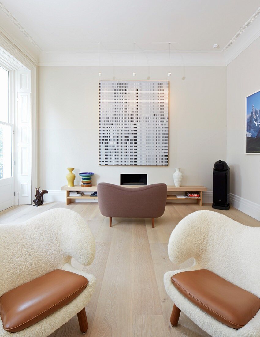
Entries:
[[14,205],[13,118],[10,72],[0,66],[0,211]]

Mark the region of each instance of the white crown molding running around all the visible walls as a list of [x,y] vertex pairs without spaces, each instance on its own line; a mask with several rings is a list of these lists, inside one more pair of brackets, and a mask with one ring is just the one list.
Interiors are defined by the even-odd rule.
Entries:
[[[260,8],[221,51],[171,51],[171,66],[226,66],[260,37]],[[98,51],[42,51],[0,2],[0,34],[39,66],[99,66]],[[2,46],[4,47],[4,46]],[[101,66],[133,66],[133,51],[102,51]],[[136,51],[136,66],[168,67],[168,51]]]

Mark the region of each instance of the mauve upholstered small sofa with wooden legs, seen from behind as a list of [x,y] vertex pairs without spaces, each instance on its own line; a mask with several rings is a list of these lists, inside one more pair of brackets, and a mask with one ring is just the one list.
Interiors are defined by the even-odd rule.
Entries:
[[167,186],[153,184],[130,188],[118,185],[99,183],[98,201],[102,215],[110,218],[154,218],[162,216],[166,206]]

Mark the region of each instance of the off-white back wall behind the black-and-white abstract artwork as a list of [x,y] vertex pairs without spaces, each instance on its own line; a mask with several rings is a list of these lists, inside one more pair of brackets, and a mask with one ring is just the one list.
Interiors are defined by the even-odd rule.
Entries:
[[[212,189],[215,161],[226,160],[226,67],[151,67],[151,80],[170,80],[169,166],[99,166],[99,80],[146,80],[147,67],[39,67],[39,182],[60,190],[67,167],[95,172],[94,184],[119,184],[120,173],[147,173],[148,184],[173,185],[176,166],[183,185]],[[76,183],[79,183],[79,177]]]

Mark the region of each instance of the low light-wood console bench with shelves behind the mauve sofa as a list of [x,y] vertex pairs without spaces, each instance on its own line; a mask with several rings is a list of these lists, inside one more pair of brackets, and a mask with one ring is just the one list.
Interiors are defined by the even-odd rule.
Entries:
[[[129,185],[123,186],[126,188],[136,188],[142,187],[140,185]],[[91,187],[81,187],[80,185],[75,185],[74,187],[68,187],[67,185],[63,186],[62,191],[66,191],[66,205],[69,205],[71,202],[74,202],[76,199],[97,199],[97,196],[90,196],[89,194],[84,194],[82,196],[69,196],[69,191],[83,191],[83,192],[96,192],[97,185]],[[179,203],[192,203],[197,202],[198,205],[202,206],[202,192],[207,191],[207,187],[204,186],[167,186],[168,195],[167,200],[171,200]],[[185,192],[198,192],[199,198],[177,198],[176,194],[185,194]],[[174,194],[175,193],[175,194]]]

